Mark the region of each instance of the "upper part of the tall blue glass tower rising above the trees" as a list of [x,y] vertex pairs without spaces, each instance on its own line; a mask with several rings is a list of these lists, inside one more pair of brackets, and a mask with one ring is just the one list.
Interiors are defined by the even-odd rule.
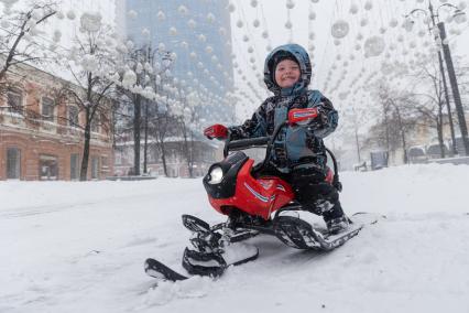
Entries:
[[[174,77],[225,99],[233,84],[228,0],[120,1],[126,3],[117,6],[117,17],[126,17],[121,23],[128,39],[138,46],[151,43],[157,48],[163,44],[166,51],[177,55],[172,68]],[[234,106],[222,101],[205,106],[204,110],[215,116],[210,118],[214,120],[232,121],[234,117]]]

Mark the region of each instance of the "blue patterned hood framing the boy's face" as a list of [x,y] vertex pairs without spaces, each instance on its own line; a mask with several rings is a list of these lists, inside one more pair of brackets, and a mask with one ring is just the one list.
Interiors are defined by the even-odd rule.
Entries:
[[[275,83],[274,79],[274,71],[275,71],[275,61],[279,60],[280,56],[292,56],[294,57],[302,71],[302,76],[299,80],[290,88],[281,88]],[[309,55],[301,45],[298,44],[285,44],[274,48],[265,58],[264,63],[264,83],[268,86],[269,90],[274,93],[274,95],[282,96],[293,96],[299,95],[304,90],[307,89],[309,82],[312,79],[312,63],[309,60]]]

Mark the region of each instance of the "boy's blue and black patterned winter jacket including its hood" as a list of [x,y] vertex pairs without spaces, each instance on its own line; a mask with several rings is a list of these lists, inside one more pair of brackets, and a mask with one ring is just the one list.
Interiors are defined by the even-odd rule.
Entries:
[[[301,67],[301,78],[291,88],[280,88],[273,78],[276,60],[282,55],[294,56]],[[310,73],[309,56],[302,46],[287,44],[275,48],[264,65],[264,82],[274,96],[265,99],[243,125],[229,128],[231,140],[271,136],[275,127],[287,119],[290,109],[318,108],[318,118],[308,126],[283,128],[273,144],[270,163],[284,173],[298,168],[325,172],[327,156],[323,138],[337,128],[338,114],[318,90],[307,89]]]

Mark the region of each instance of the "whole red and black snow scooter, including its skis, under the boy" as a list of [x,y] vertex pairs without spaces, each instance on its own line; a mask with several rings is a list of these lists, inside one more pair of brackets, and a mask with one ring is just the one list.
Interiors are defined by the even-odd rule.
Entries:
[[[306,125],[316,117],[315,108],[292,109],[287,121],[277,126],[270,137],[225,142],[225,159],[210,166],[203,182],[211,206],[227,215],[228,220],[210,226],[195,216],[183,215],[184,226],[194,233],[190,244],[195,249],[186,248],[183,256],[183,267],[189,274],[220,276],[228,266],[255,259],[257,247],[238,245],[241,249],[236,252],[228,247],[259,234],[276,236],[294,248],[328,251],[360,231],[362,225],[357,223],[337,235],[328,234],[326,228],[315,228],[299,217],[305,211],[295,202],[292,187],[280,177],[262,174],[281,130],[288,125]],[[254,147],[266,147],[264,161],[257,165],[239,151]],[[334,164],[334,171],[328,169],[326,182],[341,191],[336,159],[330,150],[326,151]],[[187,278],[154,259],[146,260],[145,271],[168,280]]]

